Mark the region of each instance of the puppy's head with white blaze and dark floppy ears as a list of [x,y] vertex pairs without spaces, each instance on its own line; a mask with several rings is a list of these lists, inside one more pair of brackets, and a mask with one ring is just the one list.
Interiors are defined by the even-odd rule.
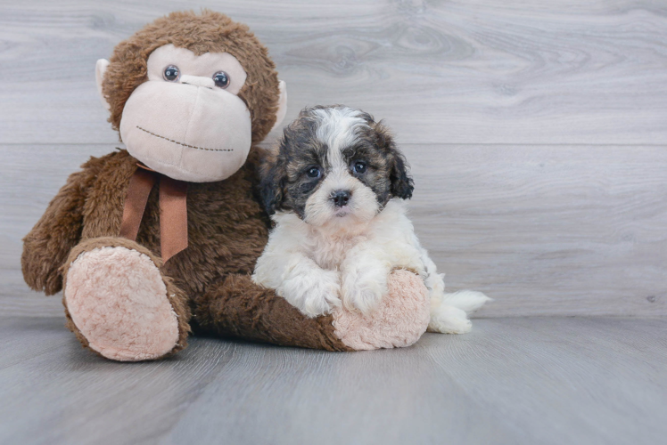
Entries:
[[412,179],[391,134],[348,107],[304,109],[264,169],[269,214],[291,210],[315,226],[367,222],[393,197],[410,198]]

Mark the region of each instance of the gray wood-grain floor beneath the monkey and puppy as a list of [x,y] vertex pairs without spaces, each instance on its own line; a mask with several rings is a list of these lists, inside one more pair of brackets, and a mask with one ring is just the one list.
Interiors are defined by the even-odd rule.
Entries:
[[172,360],[81,349],[62,318],[0,320],[2,443],[662,443],[667,320],[477,320],[332,353],[197,338]]

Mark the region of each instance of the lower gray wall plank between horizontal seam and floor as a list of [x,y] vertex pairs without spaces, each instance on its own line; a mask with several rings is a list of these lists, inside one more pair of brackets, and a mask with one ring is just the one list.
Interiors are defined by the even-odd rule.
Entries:
[[[23,283],[21,237],[87,153],[113,147],[0,145],[0,311],[62,312]],[[663,147],[403,150],[416,181],[411,218],[447,286],[495,298],[478,316],[667,315]]]

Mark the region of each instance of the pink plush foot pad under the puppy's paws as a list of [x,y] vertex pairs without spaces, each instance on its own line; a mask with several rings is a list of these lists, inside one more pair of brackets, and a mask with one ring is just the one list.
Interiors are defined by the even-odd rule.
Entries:
[[334,309],[334,333],[343,344],[356,350],[398,348],[424,334],[431,318],[424,281],[410,271],[393,271],[388,286],[388,295],[370,315]]

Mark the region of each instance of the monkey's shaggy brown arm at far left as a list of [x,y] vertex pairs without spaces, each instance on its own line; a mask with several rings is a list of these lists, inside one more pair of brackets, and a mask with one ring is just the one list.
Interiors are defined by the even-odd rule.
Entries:
[[89,164],[70,175],[45,214],[23,239],[23,279],[29,287],[43,290],[46,295],[62,289],[61,266],[81,238],[86,191],[96,175]]

